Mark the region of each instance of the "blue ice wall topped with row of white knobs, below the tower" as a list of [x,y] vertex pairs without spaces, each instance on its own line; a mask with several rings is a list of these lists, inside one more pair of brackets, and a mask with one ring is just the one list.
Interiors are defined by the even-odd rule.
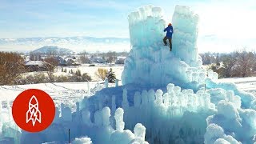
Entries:
[[[217,111],[205,90],[195,93],[172,83],[166,86],[166,90],[143,90],[142,87],[134,90],[132,86],[109,88],[85,103],[90,105],[86,107],[91,113],[101,110],[102,106],[110,107],[111,111],[122,107],[124,115],[115,121],[118,122],[116,130],[122,130],[125,122],[126,129],[134,129],[136,135],[138,130],[134,126],[142,123],[146,127],[146,141],[150,143],[202,143],[206,118]],[[119,113],[122,115],[122,111]],[[144,132],[138,135],[144,135]]]

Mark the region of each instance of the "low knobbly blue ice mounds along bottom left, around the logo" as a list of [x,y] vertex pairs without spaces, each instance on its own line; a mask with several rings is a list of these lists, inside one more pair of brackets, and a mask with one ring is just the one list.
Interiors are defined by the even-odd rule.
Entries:
[[[125,112],[122,108],[115,110],[114,115],[111,115],[110,108],[107,106],[97,110],[94,113],[94,122],[91,122],[90,111],[79,110],[79,105],[77,106],[77,110],[71,114],[71,120],[66,119],[70,114],[65,113],[68,107],[63,106],[62,116],[55,113],[54,122],[49,128],[39,133],[20,131],[17,126],[4,123],[2,126],[4,134],[1,134],[0,143],[67,143],[69,129],[72,143],[148,143],[145,140],[146,128],[142,124],[139,123],[134,127],[134,133],[131,130],[124,130],[123,114]],[[58,107],[56,109],[59,111]],[[110,119],[113,118],[116,126],[110,123]],[[13,121],[6,122],[13,123]]]

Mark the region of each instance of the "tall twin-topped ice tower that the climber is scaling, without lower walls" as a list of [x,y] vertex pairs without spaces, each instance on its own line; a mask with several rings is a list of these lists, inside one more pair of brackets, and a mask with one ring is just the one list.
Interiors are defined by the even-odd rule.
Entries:
[[166,22],[162,16],[162,9],[154,6],[144,6],[129,14],[132,49],[122,72],[123,85],[166,86],[171,82],[189,86],[190,82],[200,84],[198,77],[204,81],[206,71],[201,68],[197,50],[198,15],[189,7],[176,6],[171,52],[168,46],[163,46]]

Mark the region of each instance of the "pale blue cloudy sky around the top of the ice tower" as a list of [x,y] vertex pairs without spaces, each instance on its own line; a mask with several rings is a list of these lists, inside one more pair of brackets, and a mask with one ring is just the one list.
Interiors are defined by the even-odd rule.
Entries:
[[0,38],[129,38],[127,15],[150,4],[166,21],[176,5],[190,6],[200,17],[199,51],[256,49],[254,0],[0,0]]

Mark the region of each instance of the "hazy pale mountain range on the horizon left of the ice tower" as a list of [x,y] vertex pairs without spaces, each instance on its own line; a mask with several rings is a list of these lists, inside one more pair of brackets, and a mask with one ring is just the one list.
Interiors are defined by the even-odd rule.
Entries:
[[0,38],[0,51],[29,52],[43,46],[66,47],[75,52],[129,51],[129,38],[48,37],[48,38]]

